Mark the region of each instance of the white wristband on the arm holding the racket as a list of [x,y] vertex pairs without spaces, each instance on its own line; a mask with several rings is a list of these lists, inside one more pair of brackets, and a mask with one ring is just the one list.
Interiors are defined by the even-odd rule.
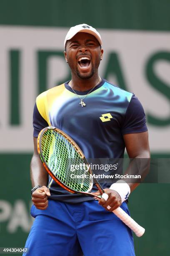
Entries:
[[113,183],[110,186],[110,189],[115,190],[120,195],[122,202],[127,200],[128,196],[130,195],[130,187],[128,183],[122,179],[118,180],[116,183]]

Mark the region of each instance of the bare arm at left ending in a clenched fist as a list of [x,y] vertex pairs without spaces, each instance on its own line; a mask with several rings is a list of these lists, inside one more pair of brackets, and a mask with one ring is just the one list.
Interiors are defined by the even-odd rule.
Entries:
[[32,202],[37,209],[45,210],[48,207],[47,196],[50,196],[50,191],[46,187],[48,174],[42,165],[40,157],[37,153],[37,138],[34,138],[34,154],[30,165],[30,175],[32,187],[42,185],[32,193]]

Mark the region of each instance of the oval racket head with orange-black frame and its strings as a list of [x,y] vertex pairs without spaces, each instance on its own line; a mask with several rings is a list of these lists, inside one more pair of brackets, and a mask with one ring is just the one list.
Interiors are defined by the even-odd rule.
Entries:
[[88,163],[79,146],[65,132],[50,126],[42,129],[37,138],[37,151],[45,170],[57,184],[71,193],[94,196],[90,193],[93,186],[90,168],[78,170],[87,178],[70,179],[71,164],[87,166]]

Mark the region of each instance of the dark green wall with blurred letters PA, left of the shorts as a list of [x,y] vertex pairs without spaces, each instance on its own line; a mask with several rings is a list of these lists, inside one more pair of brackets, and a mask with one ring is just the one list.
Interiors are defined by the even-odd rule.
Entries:
[[30,154],[0,154],[0,247],[25,245],[31,224],[30,159]]

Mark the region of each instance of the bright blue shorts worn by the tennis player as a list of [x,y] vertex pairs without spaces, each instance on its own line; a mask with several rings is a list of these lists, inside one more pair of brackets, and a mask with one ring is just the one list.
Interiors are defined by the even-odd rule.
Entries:
[[[122,209],[129,214],[125,202]],[[49,200],[46,210],[34,205],[35,218],[25,256],[135,256],[133,235],[97,201],[69,204]]]

